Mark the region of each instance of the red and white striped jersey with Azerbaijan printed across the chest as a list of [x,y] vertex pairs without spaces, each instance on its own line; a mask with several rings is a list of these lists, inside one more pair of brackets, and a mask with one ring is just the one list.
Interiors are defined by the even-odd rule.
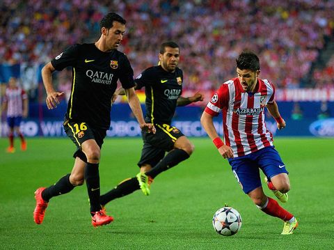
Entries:
[[212,96],[205,112],[223,113],[225,144],[234,157],[273,146],[273,135],[264,123],[264,107],[274,100],[275,88],[267,79],[258,79],[254,93],[246,93],[238,78],[226,81]]

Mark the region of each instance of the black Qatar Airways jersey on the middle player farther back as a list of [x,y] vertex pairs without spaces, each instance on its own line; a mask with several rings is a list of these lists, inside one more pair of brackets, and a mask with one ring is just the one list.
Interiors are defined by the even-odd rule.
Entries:
[[145,86],[146,123],[170,124],[182,94],[183,73],[180,68],[172,72],[161,65],[144,70],[135,79],[137,88]]

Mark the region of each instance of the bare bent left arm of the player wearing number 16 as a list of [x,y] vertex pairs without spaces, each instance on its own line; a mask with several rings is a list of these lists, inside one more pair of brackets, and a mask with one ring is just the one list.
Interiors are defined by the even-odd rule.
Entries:
[[42,68],[42,80],[45,86],[45,91],[47,91],[47,108],[55,109],[59,104],[58,97],[62,96],[63,92],[56,92],[54,90],[54,85],[52,84],[52,73],[56,70],[51,62],[47,63]]

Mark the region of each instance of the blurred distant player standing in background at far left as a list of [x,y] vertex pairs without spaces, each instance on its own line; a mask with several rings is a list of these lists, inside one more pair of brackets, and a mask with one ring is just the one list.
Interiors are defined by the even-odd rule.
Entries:
[[26,117],[28,115],[28,96],[24,89],[17,85],[17,79],[15,77],[10,77],[8,81],[2,110],[7,111],[9,139],[7,152],[15,152],[14,132],[16,132],[21,139],[21,150],[26,150],[26,141],[24,140],[22,132],[19,130],[19,124],[21,123],[22,116]]

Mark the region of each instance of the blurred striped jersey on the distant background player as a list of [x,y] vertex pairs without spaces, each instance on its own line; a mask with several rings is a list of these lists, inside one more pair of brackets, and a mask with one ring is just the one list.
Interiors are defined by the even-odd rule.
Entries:
[[16,117],[22,116],[23,113],[23,100],[28,96],[26,92],[20,88],[6,88],[5,102],[7,102],[7,116]]

